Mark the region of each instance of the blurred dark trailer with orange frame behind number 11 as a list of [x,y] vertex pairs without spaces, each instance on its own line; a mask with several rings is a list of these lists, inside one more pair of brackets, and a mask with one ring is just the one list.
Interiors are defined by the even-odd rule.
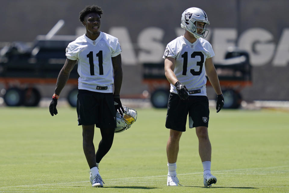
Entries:
[[[37,36],[32,45],[13,42],[0,50],[0,83],[5,86],[3,98],[7,106],[37,106],[41,94],[35,86],[56,84],[66,60],[65,49],[76,38],[54,35],[63,24],[63,20],[58,21],[47,35]],[[73,85],[67,95],[71,106],[76,106],[78,77],[75,65],[67,81]]]

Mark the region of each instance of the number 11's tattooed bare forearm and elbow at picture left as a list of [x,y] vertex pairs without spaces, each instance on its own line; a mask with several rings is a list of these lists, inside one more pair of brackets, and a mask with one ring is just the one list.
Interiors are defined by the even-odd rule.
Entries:
[[76,64],[76,61],[77,60],[66,59],[64,66],[62,67],[60,73],[58,74],[56,88],[54,92],[55,94],[59,95],[61,93],[61,90],[64,88],[65,84],[67,83],[70,72],[72,71],[74,65]]

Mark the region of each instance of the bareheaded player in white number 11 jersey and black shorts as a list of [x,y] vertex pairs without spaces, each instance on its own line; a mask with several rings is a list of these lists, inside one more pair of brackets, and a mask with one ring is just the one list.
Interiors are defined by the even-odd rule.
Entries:
[[[86,6],[79,20],[86,33],[68,44],[66,62],[61,69],[49,106],[50,114],[57,114],[57,99],[65,86],[70,71],[78,62],[78,125],[82,125],[83,151],[90,167],[92,187],[103,187],[98,164],[110,150],[116,128],[116,111],[123,114],[120,87],[123,79],[121,48],[116,37],[101,32],[101,14],[98,6]],[[114,91],[113,91],[114,85]],[[95,153],[94,128],[100,128],[101,141]]]

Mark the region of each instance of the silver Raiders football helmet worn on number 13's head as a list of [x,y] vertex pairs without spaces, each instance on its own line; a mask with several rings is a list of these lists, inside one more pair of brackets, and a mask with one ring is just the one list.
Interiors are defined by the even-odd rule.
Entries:
[[[204,22],[204,28],[197,27],[197,22]],[[207,26],[210,25],[207,14],[200,8],[192,7],[182,14],[181,27],[192,33],[195,38],[206,38],[209,33]],[[197,33],[197,28],[203,29],[202,33]]]

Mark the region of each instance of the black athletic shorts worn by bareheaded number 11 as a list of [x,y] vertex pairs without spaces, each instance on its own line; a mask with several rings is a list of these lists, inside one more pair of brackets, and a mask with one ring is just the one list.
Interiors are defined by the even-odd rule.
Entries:
[[94,125],[98,128],[116,128],[116,111],[113,93],[78,90],[78,125]]

